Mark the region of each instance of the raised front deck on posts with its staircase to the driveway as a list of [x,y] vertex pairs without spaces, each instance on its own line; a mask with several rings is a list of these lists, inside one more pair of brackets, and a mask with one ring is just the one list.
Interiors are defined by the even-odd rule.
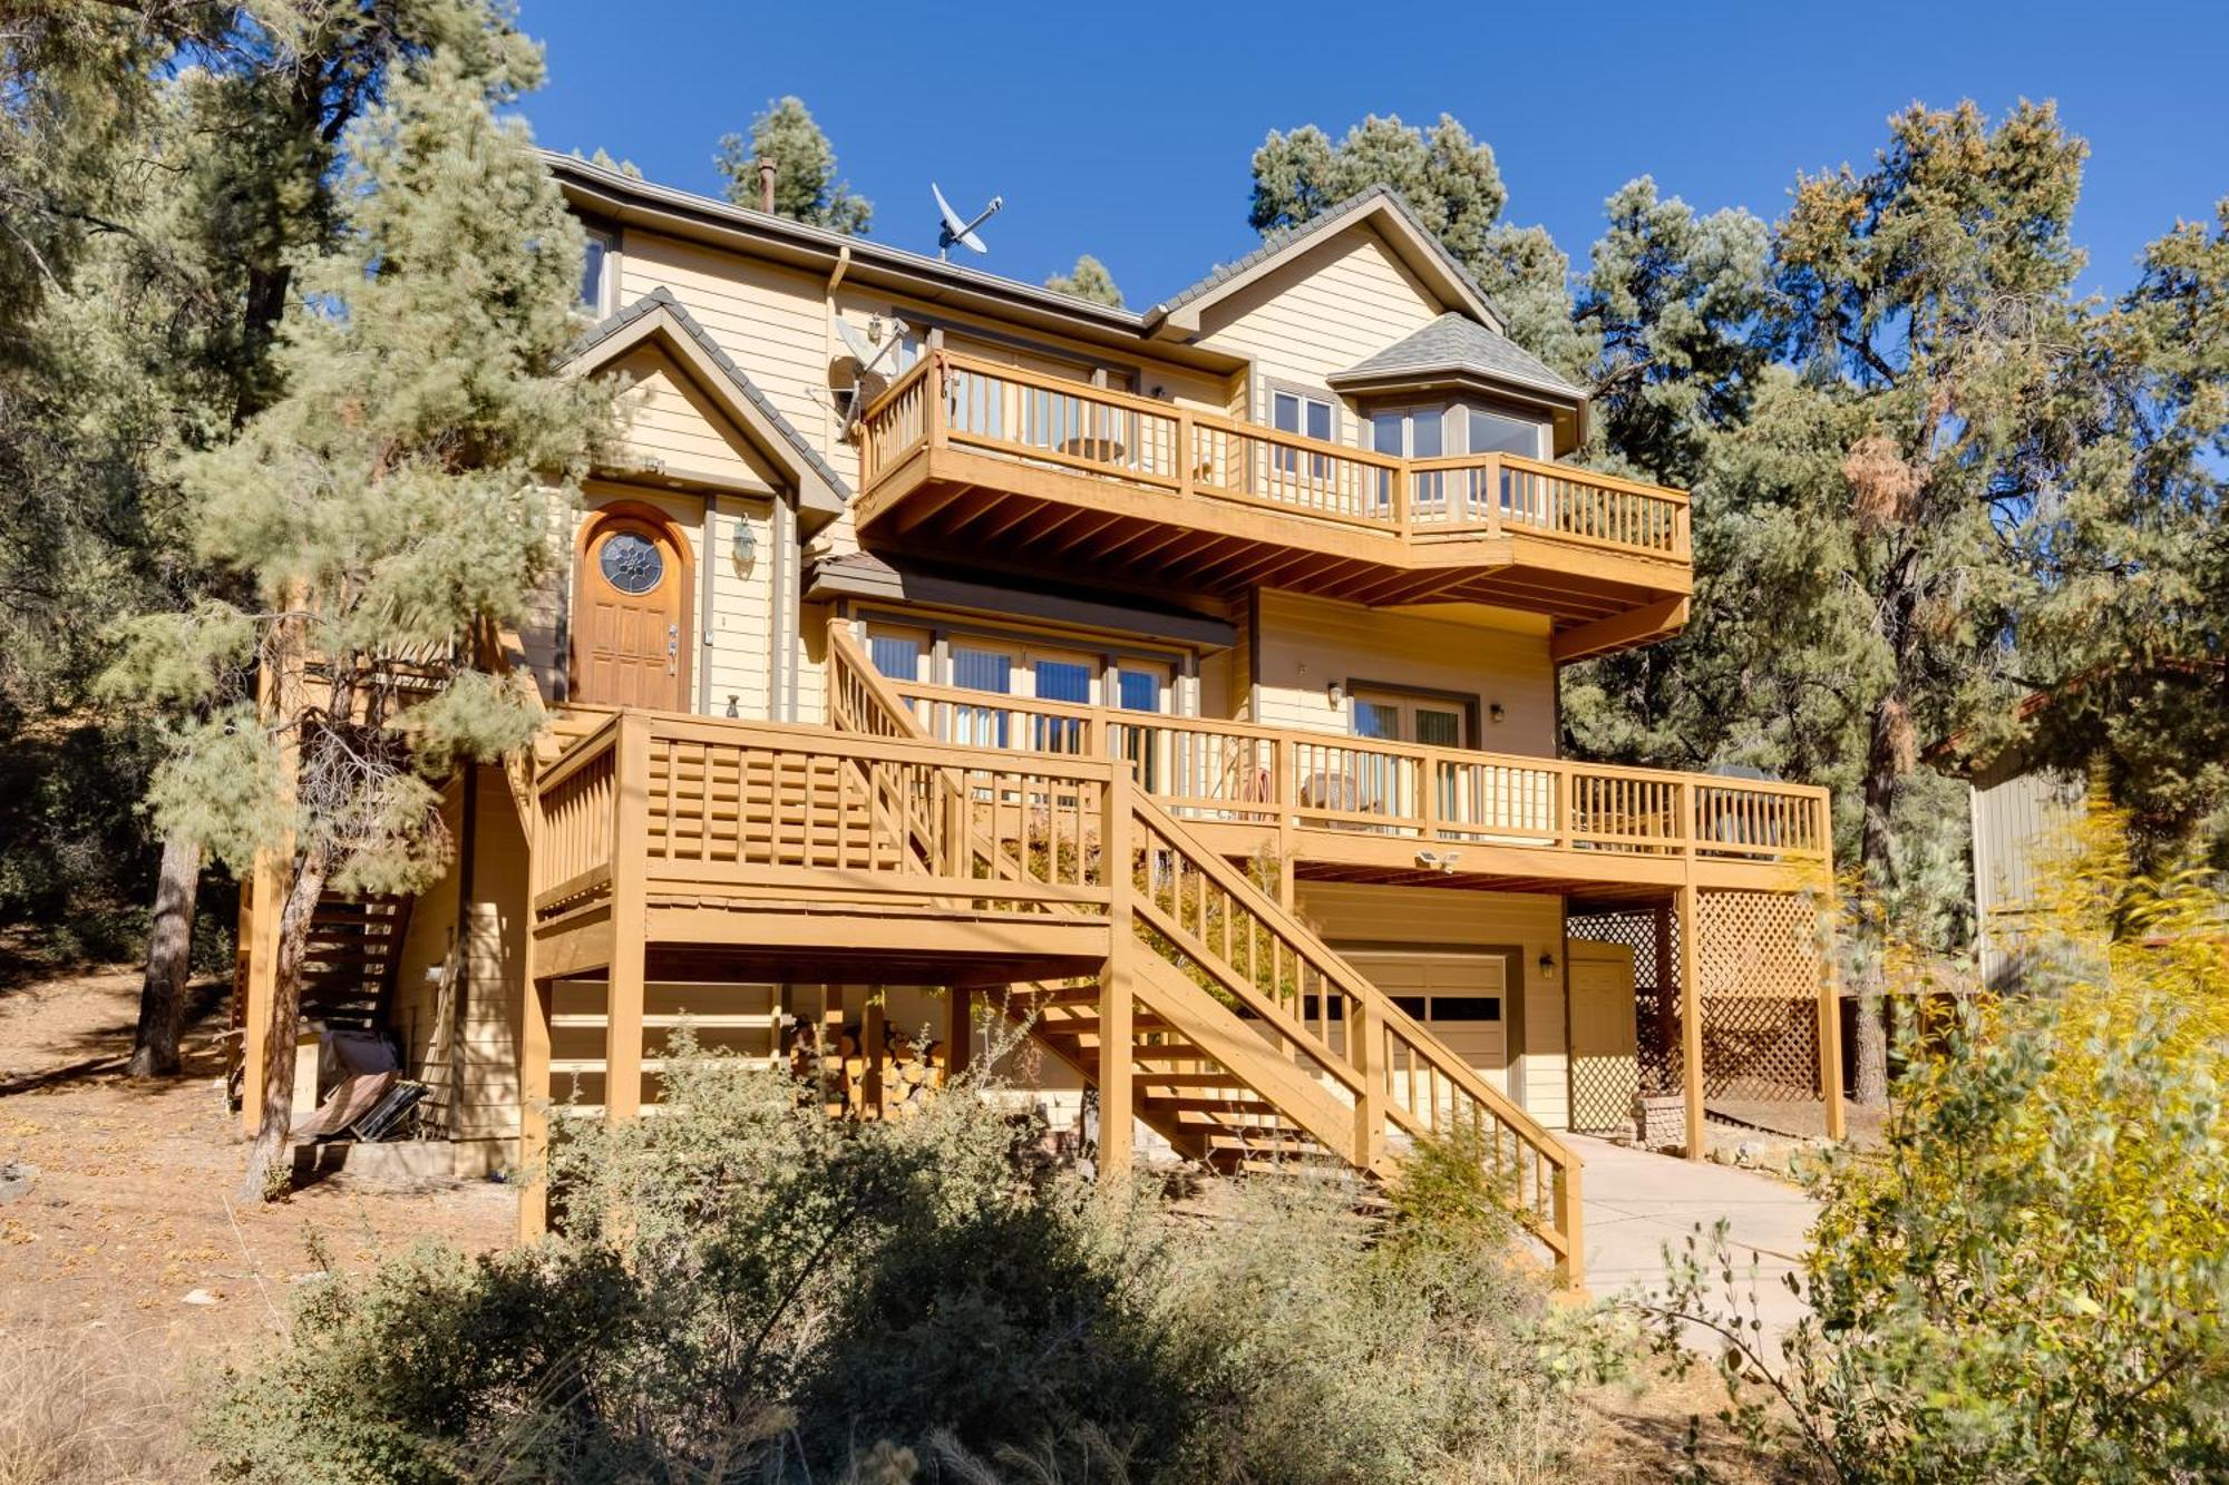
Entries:
[[[546,1137],[553,981],[602,981],[604,1117],[644,1108],[644,986],[1008,986],[1032,1035],[1199,1159],[1393,1177],[1467,1130],[1578,1280],[1578,1162],[1137,785],[1121,758],[929,738],[834,631],[829,725],[617,711],[535,769],[524,1153]],[[1121,1171],[1130,1119],[1101,1126]],[[522,1224],[539,1224],[528,1193]]]

